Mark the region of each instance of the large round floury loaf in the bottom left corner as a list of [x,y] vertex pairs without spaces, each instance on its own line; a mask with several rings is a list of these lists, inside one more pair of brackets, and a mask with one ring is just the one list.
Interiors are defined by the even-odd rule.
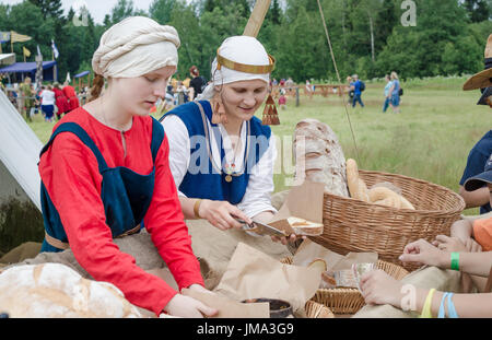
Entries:
[[20,318],[142,317],[115,285],[60,263],[11,267],[0,274],[0,313]]

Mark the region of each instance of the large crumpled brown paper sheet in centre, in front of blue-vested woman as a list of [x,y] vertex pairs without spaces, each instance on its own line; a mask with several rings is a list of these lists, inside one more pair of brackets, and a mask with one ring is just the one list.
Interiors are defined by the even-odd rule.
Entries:
[[236,301],[279,298],[296,312],[314,296],[320,281],[317,269],[283,265],[239,243],[214,292]]

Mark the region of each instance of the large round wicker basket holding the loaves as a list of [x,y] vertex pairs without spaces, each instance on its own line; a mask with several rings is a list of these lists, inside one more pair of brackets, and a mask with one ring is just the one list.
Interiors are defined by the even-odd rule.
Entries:
[[367,187],[389,181],[401,189],[415,210],[395,209],[325,192],[323,235],[314,242],[341,255],[377,253],[379,258],[414,270],[414,265],[401,263],[398,257],[407,244],[436,235],[449,235],[453,222],[465,209],[462,198],[429,181],[380,172],[359,171]]

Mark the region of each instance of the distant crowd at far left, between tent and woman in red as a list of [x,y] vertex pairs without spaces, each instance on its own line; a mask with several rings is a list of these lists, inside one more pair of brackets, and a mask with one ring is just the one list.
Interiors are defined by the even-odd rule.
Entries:
[[58,82],[43,84],[37,89],[32,79],[26,77],[20,84],[5,86],[3,82],[0,83],[1,90],[27,121],[32,121],[33,116],[40,113],[45,121],[55,122],[80,106],[75,89],[69,82],[63,85]]

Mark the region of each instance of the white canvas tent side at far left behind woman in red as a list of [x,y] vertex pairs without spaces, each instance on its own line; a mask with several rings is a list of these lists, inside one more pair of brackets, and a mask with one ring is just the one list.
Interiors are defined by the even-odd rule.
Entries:
[[43,143],[0,91],[0,203],[31,200],[40,211],[37,171]]

